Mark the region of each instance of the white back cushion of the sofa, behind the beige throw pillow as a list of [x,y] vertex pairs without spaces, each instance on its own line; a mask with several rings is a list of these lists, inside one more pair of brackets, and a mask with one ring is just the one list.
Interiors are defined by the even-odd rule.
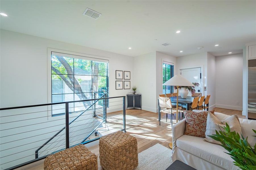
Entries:
[[[223,114],[223,113],[218,113],[215,112],[215,116],[219,120],[224,120],[229,117],[229,115]],[[239,118],[239,122],[242,128],[242,135],[244,138],[248,137],[247,141],[251,146],[254,146],[256,143],[256,137],[253,137],[255,133],[253,132],[252,129],[256,129],[256,120],[248,120],[248,119],[242,119]]]

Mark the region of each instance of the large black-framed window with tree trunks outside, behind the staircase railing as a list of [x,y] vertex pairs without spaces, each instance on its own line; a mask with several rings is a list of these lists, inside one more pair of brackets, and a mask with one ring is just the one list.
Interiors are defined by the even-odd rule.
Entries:
[[[51,52],[52,103],[99,98],[108,95],[108,89],[108,60]],[[85,110],[91,104],[70,103],[69,112]],[[53,116],[64,112],[63,105],[53,105]]]

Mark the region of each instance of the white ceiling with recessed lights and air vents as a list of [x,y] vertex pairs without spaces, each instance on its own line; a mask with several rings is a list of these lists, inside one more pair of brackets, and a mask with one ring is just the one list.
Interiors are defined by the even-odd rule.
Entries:
[[[8,14],[1,16],[1,29],[128,56],[152,51],[172,56],[199,52],[220,56],[242,52],[245,43],[256,40],[256,1],[0,3],[1,12]],[[102,15],[97,20],[82,15],[87,7]],[[181,33],[176,34],[177,30]],[[161,45],[166,42],[172,45]],[[204,48],[198,50],[198,46]]]

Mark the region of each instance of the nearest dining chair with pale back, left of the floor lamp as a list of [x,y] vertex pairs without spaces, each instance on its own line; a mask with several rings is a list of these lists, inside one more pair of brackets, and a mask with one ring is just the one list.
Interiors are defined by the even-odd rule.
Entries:
[[[169,97],[159,97],[159,125],[161,125],[161,113],[166,113],[166,122],[168,114],[171,115],[171,124],[172,124],[172,115],[176,113],[176,107],[172,106],[171,99]],[[182,109],[181,107],[178,108]]]

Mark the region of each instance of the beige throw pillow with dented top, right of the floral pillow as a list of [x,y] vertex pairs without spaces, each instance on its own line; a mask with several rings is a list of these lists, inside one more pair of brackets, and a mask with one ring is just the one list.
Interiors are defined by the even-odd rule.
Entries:
[[[215,135],[217,131],[220,131],[220,127],[226,127],[226,123],[230,126],[230,131],[236,131],[239,134],[242,133],[242,128],[239,122],[239,118],[236,114],[229,116],[225,120],[220,121],[216,116],[208,113],[207,122],[206,122],[206,131],[205,131],[205,141],[221,144],[219,141],[214,140],[213,138],[209,137],[208,135]],[[221,128],[223,131],[224,129]]]

